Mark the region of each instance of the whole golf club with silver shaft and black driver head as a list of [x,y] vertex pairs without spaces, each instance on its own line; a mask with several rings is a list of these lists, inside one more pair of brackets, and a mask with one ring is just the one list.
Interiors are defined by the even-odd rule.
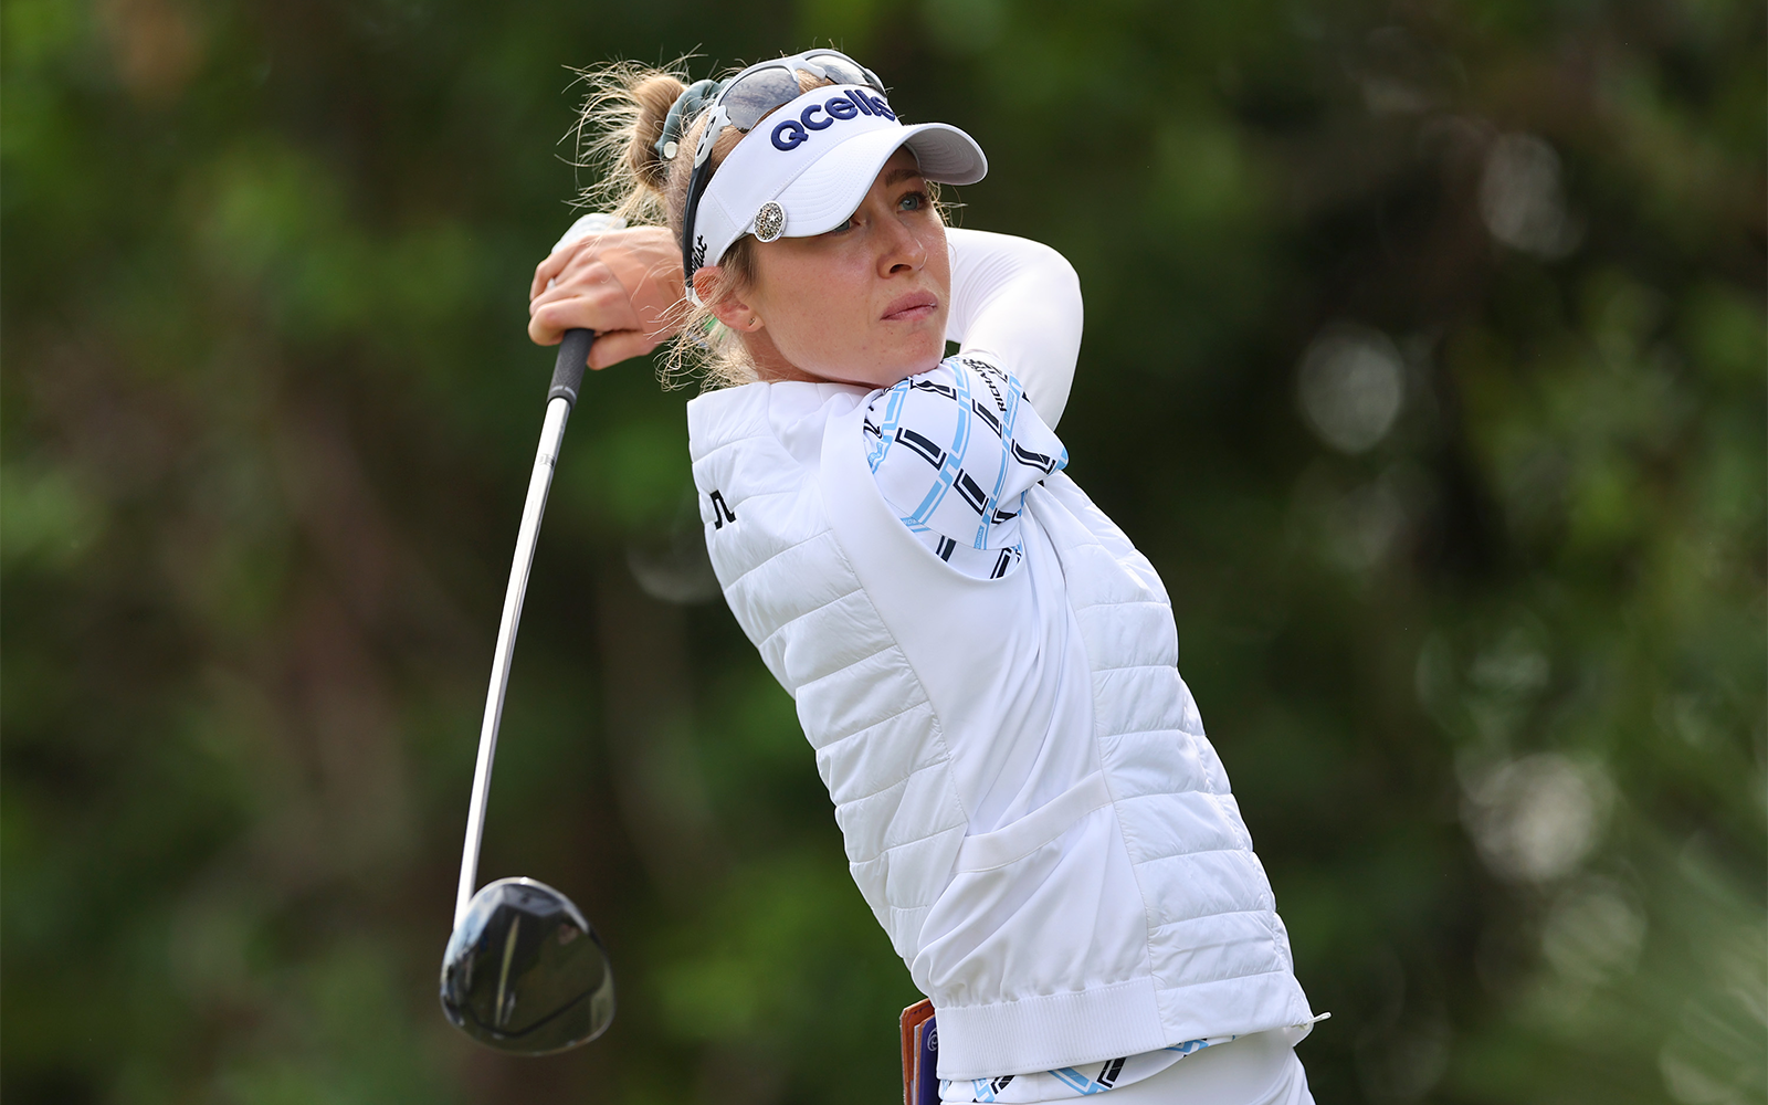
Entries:
[[[615,216],[583,216],[559,246],[624,225]],[[492,762],[504,720],[516,628],[522,624],[522,599],[529,589],[534,545],[546,513],[546,492],[552,488],[564,426],[583,384],[583,366],[594,339],[592,331],[566,331],[546,391],[546,421],[541,426],[534,476],[529,479],[529,499],[522,507],[516,557],[509,568],[504,617],[492,656],[492,688],[479,728],[479,762],[467,808],[454,934],[442,955],[442,1011],[479,1043],[516,1055],[546,1055],[589,1043],[613,1020],[613,967],[601,937],[569,898],[534,879],[499,879],[477,893],[472,889],[479,875],[484,804],[492,790]]]

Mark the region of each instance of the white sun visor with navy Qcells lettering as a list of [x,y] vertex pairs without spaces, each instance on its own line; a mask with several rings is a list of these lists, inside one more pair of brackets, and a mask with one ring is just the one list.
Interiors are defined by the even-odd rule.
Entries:
[[744,233],[771,242],[834,230],[902,147],[914,150],[926,180],[976,184],[988,173],[974,138],[942,122],[903,126],[882,95],[861,85],[812,88],[774,110],[730,150],[700,196],[688,272],[716,265]]

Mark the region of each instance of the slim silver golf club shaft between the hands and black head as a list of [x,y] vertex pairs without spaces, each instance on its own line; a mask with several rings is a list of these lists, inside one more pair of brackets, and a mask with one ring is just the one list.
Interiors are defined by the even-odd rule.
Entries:
[[454,926],[467,914],[474,882],[479,877],[479,842],[484,838],[484,803],[492,794],[492,764],[497,758],[497,730],[504,721],[504,691],[509,690],[509,663],[516,651],[516,629],[522,624],[522,599],[529,591],[529,569],[534,568],[534,546],[546,514],[546,493],[552,490],[559,446],[571,417],[583,380],[583,361],[596,339],[591,331],[566,331],[559,345],[559,362],[553,368],[546,398],[546,421],[541,424],[541,446],[534,456],[534,476],[529,477],[529,499],[522,507],[522,529],[516,530],[516,557],[509,566],[509,589],[504,592],[504,617],[497,626],[497,651],[492,654],[492,686],[484,695],[484,721],[479,727],[479,762],[472,773],[472,803],[467,806],[467,847],[460,856],[460,895],[454,900]]

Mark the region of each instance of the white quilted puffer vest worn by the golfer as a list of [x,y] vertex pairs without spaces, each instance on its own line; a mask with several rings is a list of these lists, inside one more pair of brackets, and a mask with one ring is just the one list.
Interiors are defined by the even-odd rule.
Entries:
[[[939,1077],[1310,1020],[1153,566],[1055,474],[1025,497],[1020,569],[956,573],[884,504],[866,398],[709,392],[688,405],[690,449],[730,610],[794,697],[854,882],[939,1011]],[[1036,617],[1084,649],[1093,723],[1038,734],[1068,744],[1054,751],[1071,778],[976,831],[964,764],[1017,735],[976,702],[1017,693],[995,628],[1024,621],[1006,608],[1029,601],[1024,573],[1064,580],[1068,606]]]

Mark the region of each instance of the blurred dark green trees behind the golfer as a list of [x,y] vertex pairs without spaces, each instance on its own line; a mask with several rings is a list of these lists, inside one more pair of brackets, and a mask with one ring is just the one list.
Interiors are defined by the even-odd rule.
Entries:
[[[7,0],[7,1101],[896,1100],[914,1001],[592,380],[483,877],[599,1043],[449,1029],[569,67],[833,41],[1050,242],[1075,477],[1162,569],[1328,1101],[1764,1100],[1763,5]],[[949,198],[951,193],[948,193]]]

